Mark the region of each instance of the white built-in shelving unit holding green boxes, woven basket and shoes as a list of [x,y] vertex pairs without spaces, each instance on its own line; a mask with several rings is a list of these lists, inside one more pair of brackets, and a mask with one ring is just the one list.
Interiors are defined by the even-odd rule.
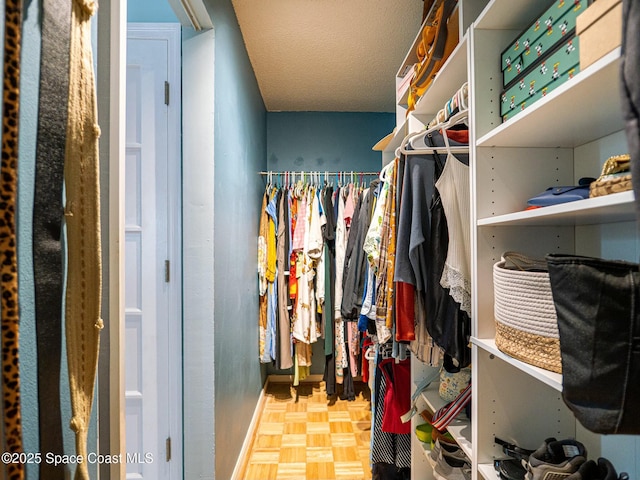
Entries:
[[[525,211],[548,187],[597,177],[604,161],[628,152],[618,72],[620,49],[583,69],[524,111],[500,115],[500,54],[548,2],[459,0],[460,42],[414,111],[398,96],[391,161],[405,135],[425,127],[464,82],[469,84],[472,264],[472,419],[451,426],[472,462],[473,480],[495,480],[504,458],[495,436],[528,449],[548,437],[575,438],[589,459],[608,458],[618,472],[640,478],[640,436],[597,435],[584,429],[562,400],[562,376],[516,360],[496,347],[493,265],[505,251],[543,257],[573,253],[637,262],[640,252],[632,192]],[[417,42],[418,37],[416,37]],[[412,46],[399,69],[415,60]],[[412,360],[413,384],[424,365]],[[413,387],[415,389],[415,386]],[[437,384],[418,407],[434,410]],[[418,416],[416,416],[418,417]],[[415,423],[422,420],[414,417]],[[433,478],[424,444],[413,436],[412,478]]]

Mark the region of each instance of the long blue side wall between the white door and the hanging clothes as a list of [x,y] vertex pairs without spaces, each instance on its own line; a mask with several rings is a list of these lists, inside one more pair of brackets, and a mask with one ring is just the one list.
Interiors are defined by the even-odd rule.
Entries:
[[262,390],[255,255],[266,167],[266,110],[230,0],[215,28],[215,476],[231,478]]

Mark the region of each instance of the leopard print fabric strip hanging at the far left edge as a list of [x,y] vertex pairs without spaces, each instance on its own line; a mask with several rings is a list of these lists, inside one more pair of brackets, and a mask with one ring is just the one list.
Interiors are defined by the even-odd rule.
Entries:
[[[18,368],[18,266],[16,196],[18,187],[18,113],[22,4],[5,2],[2,162],[0,165],[0,275],[2,278],[2,399],[4,449],[22,452],[20,372]],[[24,478],[24,465],[6,466],[7,478]]]

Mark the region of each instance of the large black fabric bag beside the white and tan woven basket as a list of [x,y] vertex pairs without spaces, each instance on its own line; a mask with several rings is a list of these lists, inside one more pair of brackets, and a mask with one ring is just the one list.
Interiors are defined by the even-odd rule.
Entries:
[[640,434],[640,265],[551,254],[562,397],[601,434]]

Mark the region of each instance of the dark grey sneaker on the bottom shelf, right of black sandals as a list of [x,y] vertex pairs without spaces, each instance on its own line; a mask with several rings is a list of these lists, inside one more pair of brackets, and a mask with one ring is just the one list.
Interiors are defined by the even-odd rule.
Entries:
[[582,443],[548,438],[529,456],[525,480],[564,480],[586,461],[587,451]]

